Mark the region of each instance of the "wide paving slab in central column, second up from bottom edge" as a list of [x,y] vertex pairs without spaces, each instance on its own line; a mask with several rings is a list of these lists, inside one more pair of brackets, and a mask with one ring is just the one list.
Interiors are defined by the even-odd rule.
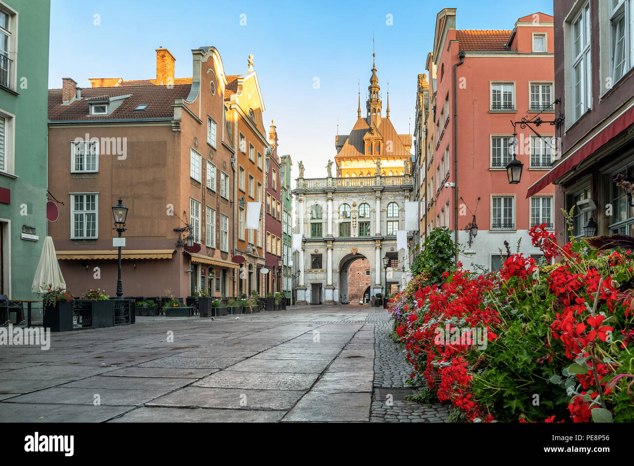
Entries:
[[185,387],[160,396],[146,406],[170,408],[224,408],[242,410],[290,410],[303,391],[245,390],[207,387]]

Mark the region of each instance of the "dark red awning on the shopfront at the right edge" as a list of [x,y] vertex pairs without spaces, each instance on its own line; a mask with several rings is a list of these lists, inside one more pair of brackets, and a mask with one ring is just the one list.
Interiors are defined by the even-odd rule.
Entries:
[[526,198],[529,198],[548,186],[548,184],[555,181],[555,179],[571,171],[573,167],[580,162],[590,157],[595,153],[598,148],[603,146],[607,141],[614,138],[617,134],[624,131],[628,126],[634,123],[634,107],[630,108],[627,112],[623,113],[618,119],[614,120],[600,133],[595,134],[592,139],[587,141],[583,146],[579,147],[575,152],[568,155],[566,159],[562,160],[559,165],[542,176],[536,183],[533,184],[526,193]]

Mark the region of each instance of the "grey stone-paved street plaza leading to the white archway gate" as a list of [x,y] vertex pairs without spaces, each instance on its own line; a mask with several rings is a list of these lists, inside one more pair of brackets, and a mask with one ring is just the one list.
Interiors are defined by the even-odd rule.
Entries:
[[442,422],[387,403],[410,368],[387,311],[292,306],[220,318],[138,317],[0,346],[0,422]]

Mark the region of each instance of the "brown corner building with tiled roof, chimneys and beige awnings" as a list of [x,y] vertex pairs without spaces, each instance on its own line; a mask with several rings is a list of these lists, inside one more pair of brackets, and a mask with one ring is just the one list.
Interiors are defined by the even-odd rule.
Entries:
[[115,294],[119,198],[129,208],[124,296],[237,293],[228,81],[215,48],[192,55],[191,78],[174,78],[175,58],[161,48],[156,79],[91,79],[89,89],[65,79],[49,90],[49,191],[64,202],[49,235],[75,295]]

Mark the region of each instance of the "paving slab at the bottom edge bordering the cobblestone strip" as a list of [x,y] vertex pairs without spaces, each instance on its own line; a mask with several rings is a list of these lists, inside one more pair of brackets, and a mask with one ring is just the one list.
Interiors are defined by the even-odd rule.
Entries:
[[282,422],[368,422],[370,403],[369,393],[310,392]]

